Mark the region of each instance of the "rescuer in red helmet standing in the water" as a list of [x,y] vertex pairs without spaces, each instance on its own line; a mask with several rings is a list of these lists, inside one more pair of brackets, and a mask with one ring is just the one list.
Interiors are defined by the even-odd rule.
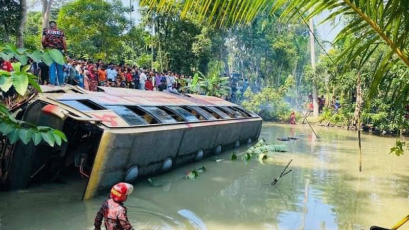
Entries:
[[112,187],[109,199],[102,204],[95,218],[94,226],[96,230],[101,229],[102,218],[105,219],[106,230],[133,230],[123,204],[132,191],[133,186],[129,183],[121,182]]

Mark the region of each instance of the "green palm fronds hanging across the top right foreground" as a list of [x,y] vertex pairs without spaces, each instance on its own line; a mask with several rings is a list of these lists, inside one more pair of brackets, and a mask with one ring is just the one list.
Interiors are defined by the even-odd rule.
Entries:
[[[169,6],[174,0],[141,0],[142,6],[149,6],[157,11],[172,10]],[[381,62],[376,66],[375,78],[371,82],[371,94],[383,82],[382,80],[392,66],[402,61],[409,68],[407,39],[409,34],[409,4],[402,0],[277,0],[277,1],[254,1],[254,0],[186,0],[180,3],[180,15],[182,17],[191,12],[199,14],[198,18],[208,21],[211,25],[231,25],[232,23],[244,23],[253,21],[257,16],[267,11],[272,14],[276,9],[284,8],[282,16],[294,17],[310,12],[305,18],[318,15],[330,10],[327,20],[337,16],[356,16],[348,21],[346,27],[339,32],[335,41],[342,40],[346,35],[360,31],[358,36],[351,38],[350,47],[347,47],[341,56],[349,56],[353,61],[359,54],[365,52],[367,57],[374,53],[369,52],[379,43],[387,44],[389,53],[381,57]],[[272,9],[272,10],[271,10]],[[210,17],[206,17],[212,15]],[[366,42],[360,43],[365,39]],[[356,45],[359,44],[358,49]],[[368,60],[363,57],[363,60]],[[409,85],[409,82],[407,83]],[[407,97],[409,91],[405,93]]]

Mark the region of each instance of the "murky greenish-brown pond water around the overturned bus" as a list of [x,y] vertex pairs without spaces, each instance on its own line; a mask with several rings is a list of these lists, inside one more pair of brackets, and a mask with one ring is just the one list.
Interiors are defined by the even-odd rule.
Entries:
[[[408,211],[409,161],[389,155],[394,139],[363,135],[363,172],[358,172],[354,132],[308,126],[264,124],[261,137],[280,142],[287,153],[271,154],[261,165],[208,159],[156,178],[163,187],[141,181],[126,205],[137,229],[200,229],[180,215],[188,210],[207,229],[369,229],[390,227]],[[235,150],[243,154],[245,148]],[[222,155],[229,158],[231,152]],[[269,186],[293,159],[292,172]],[[208,171],[195,181],[189,169]],[[93,229],[106,198],[81,201],[75,187],[47,185],[26,192],[3,193],[0,229]],[[44,218],[46,217],[46,218]],[[405,228],[406,227],[406,228]],[[403,226],[401,229],[409,229]]]

